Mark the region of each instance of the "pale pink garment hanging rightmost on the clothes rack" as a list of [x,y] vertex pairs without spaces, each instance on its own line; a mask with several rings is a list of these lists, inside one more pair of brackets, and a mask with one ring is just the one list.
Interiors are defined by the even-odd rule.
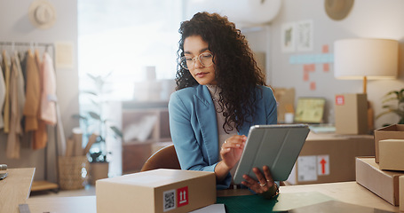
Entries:
[[41,69],[41,116],[40,119],[47,124],[54,125],[56,119],[56,76],[53,62],[48,52],[44,52],[44,60]]

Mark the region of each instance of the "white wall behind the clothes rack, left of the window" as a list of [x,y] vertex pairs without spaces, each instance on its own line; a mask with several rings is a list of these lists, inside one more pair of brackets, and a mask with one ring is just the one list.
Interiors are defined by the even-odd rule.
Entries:
[[[32,0],[0,0],[0,41],[37,42],[37,43],[73,43],[73,68],[58,68],[57,95],[64,126],[68,137],[78,122],[71,118],[78,113],[78,75],[77,75],[77,2],[48,0],[57,12],[55,25],[49,29],[35,28],[28,18],[28,8]],[[2,132],[2,130],[0,130]],[[21,150],[20,160],[5,158],[6,136],[0,133],[0,163],[9,168],[36,167],[36,180],[44,179],[44,150],[33,151],[28,147]],[[25,142],[27,143],[27,142]],[[50,135],[48,146],[48,179],[56,181],[54,159],[54,136]],[[23,146],[28,146],[24,144]]]

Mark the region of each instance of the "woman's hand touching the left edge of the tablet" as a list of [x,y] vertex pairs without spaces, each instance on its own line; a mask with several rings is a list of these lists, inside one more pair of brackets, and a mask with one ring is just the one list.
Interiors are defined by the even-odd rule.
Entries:
[[242,150],[244,150],[246,140],[247,137],[244,135],[234,135],[227,138],[220,148],[222,162],[226,164],[229,170],[231,170],[242,157]]

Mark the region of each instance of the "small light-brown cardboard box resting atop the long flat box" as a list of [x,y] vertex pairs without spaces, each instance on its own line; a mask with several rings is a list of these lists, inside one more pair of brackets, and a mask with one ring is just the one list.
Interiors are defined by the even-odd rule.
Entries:
[[404,171],[404,139],[379,140],[380,170]]

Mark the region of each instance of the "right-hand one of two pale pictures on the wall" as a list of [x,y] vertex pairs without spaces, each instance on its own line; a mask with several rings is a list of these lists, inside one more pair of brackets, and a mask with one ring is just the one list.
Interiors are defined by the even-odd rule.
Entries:
[[313,51],[313,20],[297,21],[297,51]]

